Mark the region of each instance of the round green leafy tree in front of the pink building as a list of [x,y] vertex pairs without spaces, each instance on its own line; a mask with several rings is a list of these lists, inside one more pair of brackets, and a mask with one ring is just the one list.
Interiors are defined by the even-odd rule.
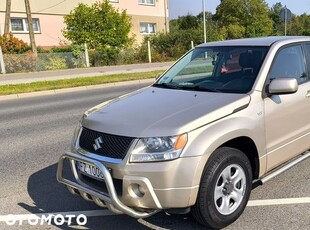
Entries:
[[63,34],[75,44],[86,43],[94,49],[125,47],[132,42],[130,20],[126,11],[119,12],[108,0],[91,6],[80,3],[64,17]]

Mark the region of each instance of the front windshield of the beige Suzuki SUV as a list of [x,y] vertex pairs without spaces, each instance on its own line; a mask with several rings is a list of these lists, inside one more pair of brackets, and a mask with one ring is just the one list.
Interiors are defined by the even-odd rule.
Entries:
[[180,59],[155,87],[248,93],[268,47],[201,47]]

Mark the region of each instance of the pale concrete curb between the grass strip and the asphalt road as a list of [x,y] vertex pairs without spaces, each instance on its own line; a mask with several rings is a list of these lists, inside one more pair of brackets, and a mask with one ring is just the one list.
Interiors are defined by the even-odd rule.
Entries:
[[89,86],[81,86],[81,87],[74,87],[74,88],[66,88],[66,89],[55,89],[55,90],[47,90],[47,91],[39,91],[39,92],[32,92],[32,93],[20,93],[20,94],[10,94],[0,96],[0,101],[5,100],[16,100],[16,99],[23,99],[29,97],[38,97],[38,96],[49,96],[61,93],[71,93],[77,91],[86,91],[92,89],[104,89],[110,87],[118,87],[118,86],[130,86],[130,85],[145,85],[145,84],[152,84],[155,79],[144,79],[144,80],[133,80],[133,81],[123,81],[123,82],[114,82],[114,83],[107,83],[107,84],[100,84],[100,85],[89,85]]

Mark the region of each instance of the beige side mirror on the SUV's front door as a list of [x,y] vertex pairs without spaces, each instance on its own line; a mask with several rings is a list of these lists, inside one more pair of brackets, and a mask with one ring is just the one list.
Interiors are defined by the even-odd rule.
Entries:
[[291,94],[298,90],[298,82],[295,78],[276,78],[271,81],[268,87],[268,93],[273,94]]

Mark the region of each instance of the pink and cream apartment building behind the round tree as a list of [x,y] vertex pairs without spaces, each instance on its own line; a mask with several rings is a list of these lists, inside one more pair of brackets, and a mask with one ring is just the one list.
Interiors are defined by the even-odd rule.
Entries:
[[[65,41],[63,17],[79,3],[93,4],[98,0],[30,0],[35,40],[38,46],[58,46]],[[126,10],[132,18],[132,31],[140,43],[145,35],[169,30],[169,0],[110,0],[119,10]],[[10,31],[29,43],[28,22],[24,0],[11,0]],[[6,0],[0,1],[0,33],[3,34]]]

